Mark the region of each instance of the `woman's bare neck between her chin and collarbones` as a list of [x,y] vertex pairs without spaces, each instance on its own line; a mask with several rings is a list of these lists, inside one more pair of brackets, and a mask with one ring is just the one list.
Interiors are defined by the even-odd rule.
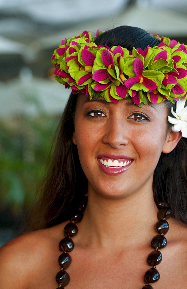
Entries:
[[152,189],[143,188],[121,199],[103,197],[92,189],[88,195],[87,208],[78,225],[81,242],[100,248],[136,246],[140,240],[155,235],[158,208]]

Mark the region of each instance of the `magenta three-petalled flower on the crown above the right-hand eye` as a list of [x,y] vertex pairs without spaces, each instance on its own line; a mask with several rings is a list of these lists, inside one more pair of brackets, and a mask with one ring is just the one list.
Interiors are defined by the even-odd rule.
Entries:
[[134,84],[136,84],[138,82],[142,83],[149,90],[157,88],[157,85],[153,80],[151,80],[151,79],[149,79],[143,75],[143,62],[139,58],[136,58],[134,60],[134,62],[132,64],[132,68],[133,68],[136,76],[128,78],[126,80],[125,84],[126,84],[127,88],[131,88]]

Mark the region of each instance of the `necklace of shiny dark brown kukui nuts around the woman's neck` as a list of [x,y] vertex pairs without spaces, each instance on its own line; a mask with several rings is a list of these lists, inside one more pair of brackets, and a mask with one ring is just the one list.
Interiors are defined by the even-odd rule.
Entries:
[[[82,203],[78,207],[78,212],[72,218],[70,218],[70,223],[66,224],[64,227],[63,232],[65,238],[63,238],[59,243],[59,250],[63,253],[58,259],[61,269],[56,275],[56,281],[59,284],[58,288],[61,289],[64,289],[63,287],[67,286],[70,282],[69,274],[64,271],[70,266],[72,261],[71,256],[67,252],[71,252],[74,249],[74,242],[72,241],[71,237],[75,236],[78,232],[78,227],[75,223],[81,222],[86,204],[87,197],[85,196]],[[167,245],[167,240],[164,235],[169,230],[169,224],[166,220],[170,217],[170,208],[165,202],[160,202],[158,204],[158,208],[160,210],[157,214],[158,222],[155,224],[155,229],[159,235],[154,236],[151,241],[151,247],[154,248],[154,251],[152,251],[147,257],[147,263],[149,266],[152,266],[152,268],[145,272],[144,282],[147,285],[143,286],[142,289],[153,289],[151,284],[160,279],[160,274],[156,269],[156,265],[160,264],[162,261],[162,254],[160,251],[158,251],[158,249],[162,249]]]

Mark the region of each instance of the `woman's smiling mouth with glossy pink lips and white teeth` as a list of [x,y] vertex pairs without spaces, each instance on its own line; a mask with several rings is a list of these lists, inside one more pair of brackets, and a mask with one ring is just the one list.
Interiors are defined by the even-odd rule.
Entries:
[[126,171],[133,159],[124,155],[99,155],[98,164],[101,170],[108,175],[119,175]]

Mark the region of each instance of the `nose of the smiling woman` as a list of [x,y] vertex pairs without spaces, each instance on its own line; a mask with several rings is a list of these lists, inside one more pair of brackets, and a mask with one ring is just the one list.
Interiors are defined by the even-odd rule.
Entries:
[[106,124],[105,134],[102,141],[110,144],[113,148],[128,144],[128,126],[124,118],[113,120]]

